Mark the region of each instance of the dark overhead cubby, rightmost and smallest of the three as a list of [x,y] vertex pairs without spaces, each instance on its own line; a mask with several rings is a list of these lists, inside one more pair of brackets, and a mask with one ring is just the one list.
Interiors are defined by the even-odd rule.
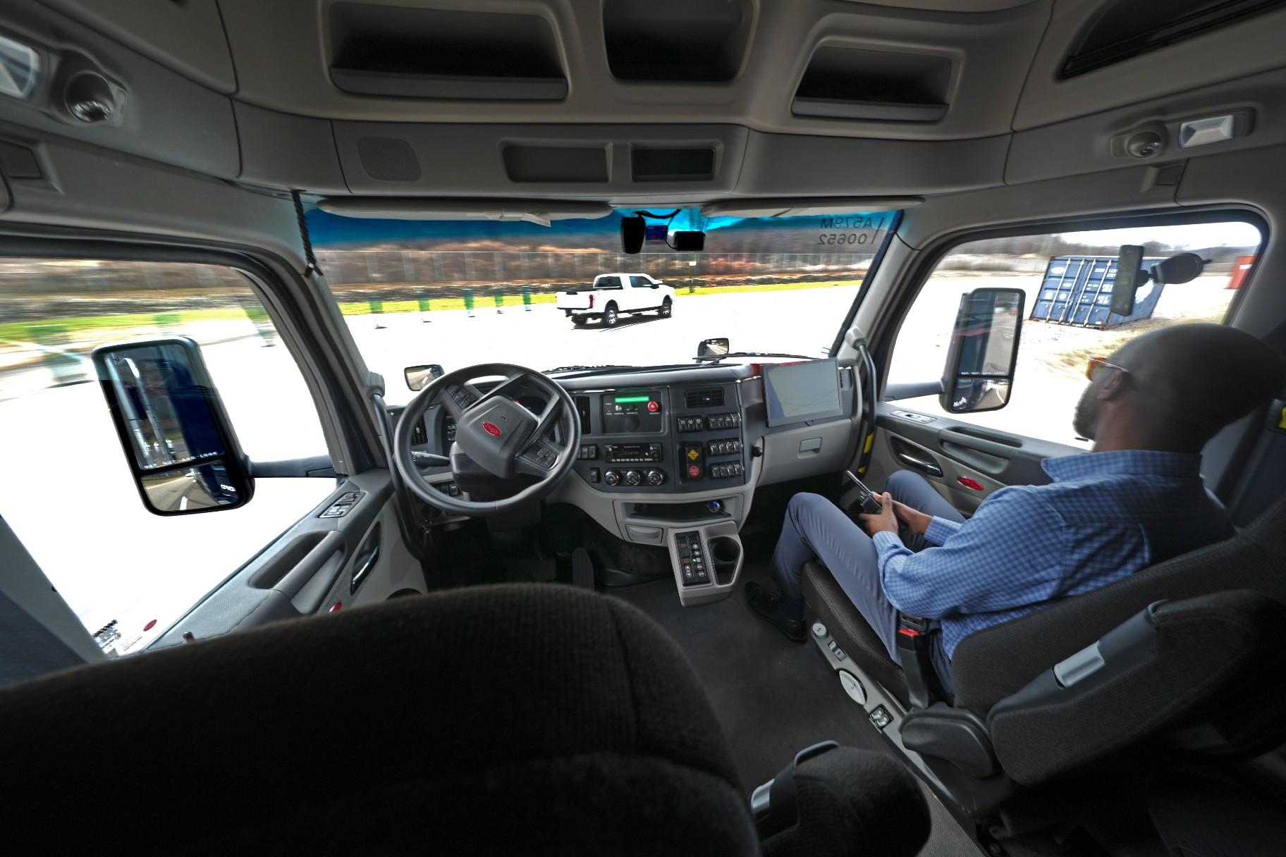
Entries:
[[795,91],[796,116],[936,122],[946,116],[952,60],[935,54],[822,46]]

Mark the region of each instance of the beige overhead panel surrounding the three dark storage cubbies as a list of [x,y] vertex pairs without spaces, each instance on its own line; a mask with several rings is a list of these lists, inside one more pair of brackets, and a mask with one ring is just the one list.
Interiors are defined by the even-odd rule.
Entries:
[[[373,0],[427,5],[422,0]],[[950,139],[1003,134],[1052,0],[975,0],[988,10],[760,0],[748,51],[727,84],[617,81],[607,63],[601,0],[435,0],[437,9],[545,18],[562,54],[562,102],[466,102],[363,98],[329,78],[328,4],[319,0],[222,0],[239,84],[238,98],[284,113],[379,122],[730,122],[773,132]],[[921,4],[916,4],[921,5]],[[943,5],[941,3],[936,5]],[[842,42],[900,53],[949,53],[958,69],[953,109],[937,122],[800,118],[791,100],[813,50]]]

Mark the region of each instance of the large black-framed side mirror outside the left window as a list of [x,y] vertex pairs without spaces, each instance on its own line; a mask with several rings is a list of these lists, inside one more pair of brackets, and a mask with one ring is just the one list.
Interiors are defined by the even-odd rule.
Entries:
[[158,515],[235,509],[255,481],[201,347],[186,337],[94,349],[143,505]]

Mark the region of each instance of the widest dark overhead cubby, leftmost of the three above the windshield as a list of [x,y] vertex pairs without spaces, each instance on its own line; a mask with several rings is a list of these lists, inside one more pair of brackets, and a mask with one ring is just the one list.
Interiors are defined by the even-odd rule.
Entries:
[[337,3],[331,81],[346,93],[561,100],[567,77],[539,15]]

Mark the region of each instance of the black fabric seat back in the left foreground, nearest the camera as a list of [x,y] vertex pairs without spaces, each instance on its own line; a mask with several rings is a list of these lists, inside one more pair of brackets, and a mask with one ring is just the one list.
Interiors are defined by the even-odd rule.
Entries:
[[683,654],[570,587],[80,667],[0,690],[0,735],[6,838],[53,853],[759,853]]

